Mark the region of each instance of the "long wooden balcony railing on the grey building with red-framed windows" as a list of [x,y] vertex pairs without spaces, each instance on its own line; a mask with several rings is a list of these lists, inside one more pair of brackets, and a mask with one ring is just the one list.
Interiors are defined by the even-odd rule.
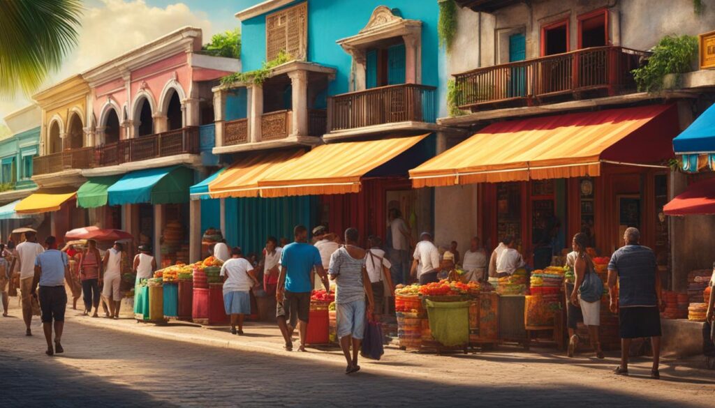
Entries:
[[565,54],[486,66],[455,75],[460,109],[488,104],[540,104],[550,96],[580,99],[589,91],[616,95],[634,91],[631,71],[649,53],[599,46]]

